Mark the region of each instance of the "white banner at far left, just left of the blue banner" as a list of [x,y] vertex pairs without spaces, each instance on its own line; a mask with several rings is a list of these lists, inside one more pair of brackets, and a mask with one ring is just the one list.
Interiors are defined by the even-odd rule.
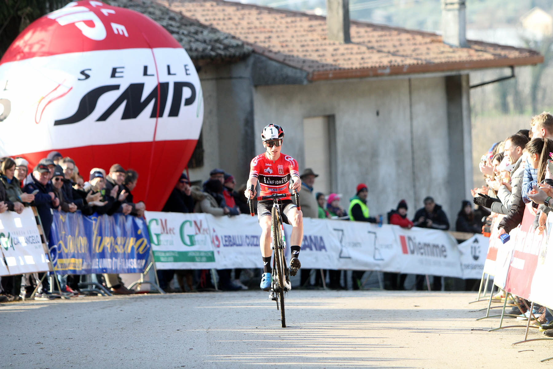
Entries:
[[[49,270],[48,258],[44,253],[33,209],[30,207],[25,207],[21,214],[13,211],[0,214],[0,245],[6,258],[8,274]],[[5,273],[1,266],[0,273]]]

